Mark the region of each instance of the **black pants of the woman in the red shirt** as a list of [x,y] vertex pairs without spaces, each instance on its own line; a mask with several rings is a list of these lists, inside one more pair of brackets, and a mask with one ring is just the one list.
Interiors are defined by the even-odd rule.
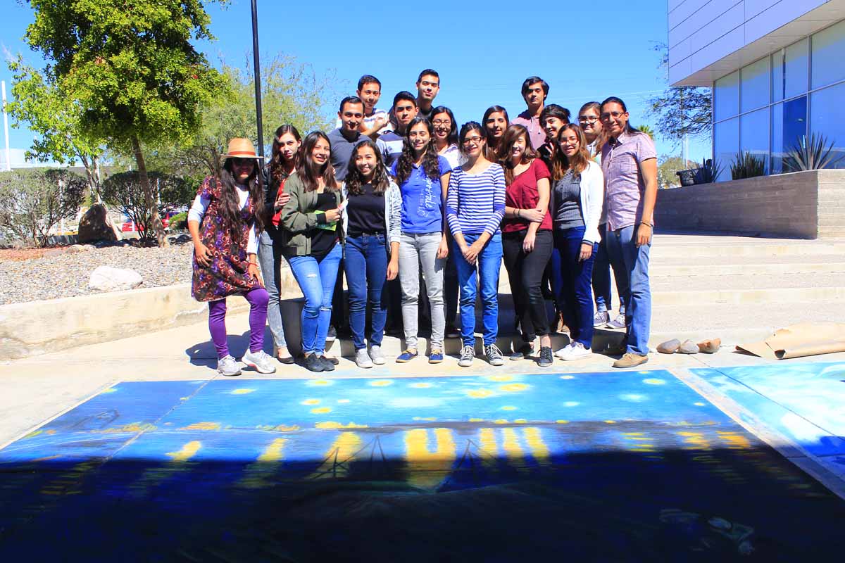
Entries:
[[538,230],[534,250],[524,252],[522,241],[527,230],[502,235],[504,268],[510,279],[510,294],[514,297],[516,318],[522,328],[522,339],[526,343],[535,336],[546,336],[548,317],[546,301],[542,297],[542,273],[552,256],[553,238],[551,230]]

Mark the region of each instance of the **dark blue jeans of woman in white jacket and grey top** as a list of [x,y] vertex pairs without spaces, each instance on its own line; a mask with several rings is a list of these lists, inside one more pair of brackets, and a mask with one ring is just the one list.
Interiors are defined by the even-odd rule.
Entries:
[[558,295],[554,296],[564,313],[566,326],[570,328],[573,342],[592,347],[592,264],[596,259],[596,244],[592,254],[584,261],[581,256],[581,242],[584,227],[554,230],[552,252],[552,280]]

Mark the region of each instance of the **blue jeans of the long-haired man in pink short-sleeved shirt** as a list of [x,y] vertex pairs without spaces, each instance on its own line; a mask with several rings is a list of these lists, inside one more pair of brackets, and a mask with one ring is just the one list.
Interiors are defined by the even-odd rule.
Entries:
[[646,355],[651,329],[651,287],[648,284],[651,242],[636,246],[636,230],[637,225],[608,230],[608,256],[619,285],[619,300],[625,306],[627,351]]

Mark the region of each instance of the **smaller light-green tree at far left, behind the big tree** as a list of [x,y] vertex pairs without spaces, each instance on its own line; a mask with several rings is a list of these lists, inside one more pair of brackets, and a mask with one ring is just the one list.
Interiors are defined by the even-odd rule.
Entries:
[[14,73],[12,101],[7,106],[12,127],[28,122],[30,129],[38,133],[32,147],[26,151],[26,157],[41,162],[54,160],[59,164],[81,163],[91,195],[101,201],[102,143],[86,138],[80,130],[82,110],[79,104],[64,95],[55,82],[26,65],[23,57],[10,61],[8,68]]

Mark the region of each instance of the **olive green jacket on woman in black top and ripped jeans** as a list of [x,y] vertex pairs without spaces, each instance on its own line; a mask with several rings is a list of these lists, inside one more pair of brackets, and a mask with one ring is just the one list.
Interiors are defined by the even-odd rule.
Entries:
[[[311,235],[318,225],[324,225],[324,214],[314,213],[317,207],[317,192],[306,192],[299,173],[294,172],[285,181],[285,192],[291,199],[281,208],[281,252],[285,256],[308,256],[311,254]],[[338,205],[343,201],[343,192],[335,191]],[[337,235],[344,240],[343,222],[337,223]]]

